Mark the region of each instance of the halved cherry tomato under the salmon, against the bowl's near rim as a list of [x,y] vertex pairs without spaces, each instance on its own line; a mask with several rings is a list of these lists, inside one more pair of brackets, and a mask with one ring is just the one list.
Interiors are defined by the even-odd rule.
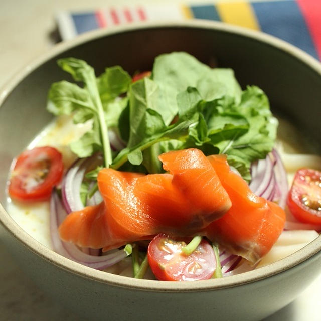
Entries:
[[190,255],[182,248],[185,242],[177,241],[164,234],[156,235],[148,246],[148,262],[158,280],[195,281],[212,277],[216,260],[212,246],[202,240]]

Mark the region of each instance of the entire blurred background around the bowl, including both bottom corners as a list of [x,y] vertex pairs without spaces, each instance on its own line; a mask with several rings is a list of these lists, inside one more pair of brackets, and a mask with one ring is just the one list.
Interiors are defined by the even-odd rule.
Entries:
[[[55,44],[132,22],[210,19],[263,31],[321,58],[321,0],[11,0],[0,2],[0,87]],[[0,137],[1,138],[1,137]],[[36,288],[0,243],[1,320],[81,320]],[[266,321],[320,317],[321,277]]]

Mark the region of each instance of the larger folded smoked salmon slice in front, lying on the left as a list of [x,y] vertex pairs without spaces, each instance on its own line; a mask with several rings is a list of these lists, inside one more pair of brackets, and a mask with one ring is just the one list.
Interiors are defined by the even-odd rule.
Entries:
[[159,156],[170,173],[142,175],[103,169],[103,203],[71,213],[59,227],[64,241],[109,250],[159,233],[190,236],[231,207],[215,169],[199,149]]

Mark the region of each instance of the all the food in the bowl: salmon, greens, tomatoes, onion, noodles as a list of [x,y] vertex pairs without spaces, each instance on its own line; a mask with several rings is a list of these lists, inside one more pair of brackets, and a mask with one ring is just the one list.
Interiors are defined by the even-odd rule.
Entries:
[[[110,273],[171,281],[247,272],[321,230],[321,158],[277,130],[257,86],[186,52],[132,76],[61,58],[55,120],[15,159],[8,213],[35,239]],[[58,68],[58,67],[57,67]],[[286,129],[284,129],[286,128]]]

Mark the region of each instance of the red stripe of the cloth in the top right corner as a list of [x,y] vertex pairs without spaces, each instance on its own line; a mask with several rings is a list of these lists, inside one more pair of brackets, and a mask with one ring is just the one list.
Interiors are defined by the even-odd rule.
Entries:
[[310,30],[317,54],[321,60],[321,1],[296,0]]

